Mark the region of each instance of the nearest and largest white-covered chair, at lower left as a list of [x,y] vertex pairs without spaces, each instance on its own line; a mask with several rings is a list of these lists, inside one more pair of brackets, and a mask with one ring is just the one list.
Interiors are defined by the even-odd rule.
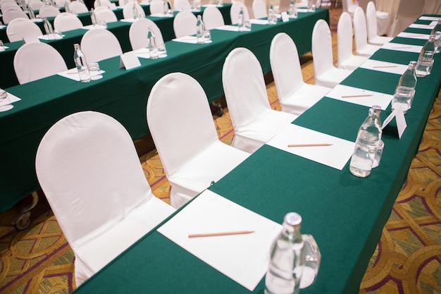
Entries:
[[61,118],[42,138],[35,170],[75,255],[76,286],[175,211],[151,193],[132,138],[106,114]]

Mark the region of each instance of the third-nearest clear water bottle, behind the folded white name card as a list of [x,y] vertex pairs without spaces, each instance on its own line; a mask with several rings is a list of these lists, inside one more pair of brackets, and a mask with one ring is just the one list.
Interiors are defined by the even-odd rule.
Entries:
[[398,106],[401,106],[404,114],[411,108],[414,101],[415,87],[416,87],[416,61],[411,61],[409,67],[403,73],[392,98],[392,111]]

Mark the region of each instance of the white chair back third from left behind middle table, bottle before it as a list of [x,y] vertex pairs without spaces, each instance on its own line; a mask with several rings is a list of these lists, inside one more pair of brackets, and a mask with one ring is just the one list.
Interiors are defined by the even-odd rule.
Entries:
[[164,43],[161,30],[159,30],[158,25],[156,25],[153,20],[149,20],[149,18],[140,18],[136,20],[135,23],[132,23],[132,25],[130,25],[129,39],[130,44],[132,45],[132,50],[146,48],[149,46],[147,40],[149,27],[153,29],[156,37],[156,44]]

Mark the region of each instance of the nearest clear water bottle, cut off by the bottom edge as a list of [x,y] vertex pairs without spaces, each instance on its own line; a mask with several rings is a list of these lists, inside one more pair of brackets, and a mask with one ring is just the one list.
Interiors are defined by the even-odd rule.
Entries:
[[280,235],[270,251],[265,276],[265,294],[297,294],[305,264],[305,248],[300,226],[302,216],[295,212],[285,215]]

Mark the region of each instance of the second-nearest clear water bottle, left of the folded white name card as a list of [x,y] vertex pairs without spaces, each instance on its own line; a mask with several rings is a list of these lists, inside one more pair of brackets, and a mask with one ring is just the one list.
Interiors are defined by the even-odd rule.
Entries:
[[349,164],[349,171],[354,176],[366,178],[371,174],[378,142],[381,140],[380,112],[381,107],[373,105],[356,136],[354,153]]

